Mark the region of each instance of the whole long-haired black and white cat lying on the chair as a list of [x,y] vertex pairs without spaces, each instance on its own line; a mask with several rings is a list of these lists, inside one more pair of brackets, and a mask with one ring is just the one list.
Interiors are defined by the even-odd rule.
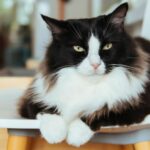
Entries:
[[49,143],[80,146],[101,126],[149,119],[150,43],[124,30],[128,4],[90,19],[42,18],[52,32],[20,114],[41,121]]

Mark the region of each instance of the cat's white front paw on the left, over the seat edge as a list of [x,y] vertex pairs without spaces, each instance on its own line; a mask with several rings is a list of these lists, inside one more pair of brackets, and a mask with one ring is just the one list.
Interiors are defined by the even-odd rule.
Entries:
[[62,142],[67,135],[67,126],[63,118],[56,114],[39,114],[40,132],[50,144]]

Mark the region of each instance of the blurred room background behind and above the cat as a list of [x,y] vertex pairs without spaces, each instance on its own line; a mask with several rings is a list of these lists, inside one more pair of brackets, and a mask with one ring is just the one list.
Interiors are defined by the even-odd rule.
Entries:
[[[40,14],[57,19],[95,17],[127,1],[127,31],[150,39],[148,0],[0,0],[0,76],[33,76],[50,42]],[[149,14],[149,15],[148,15]]]

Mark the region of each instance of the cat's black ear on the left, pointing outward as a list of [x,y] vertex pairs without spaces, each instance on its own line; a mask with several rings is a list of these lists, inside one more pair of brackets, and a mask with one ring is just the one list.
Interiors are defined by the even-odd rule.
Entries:
[[45,15],[41,15],[41,17],[47,23],[52,34],[59,34],[65,30],[65,21],[56,20]]

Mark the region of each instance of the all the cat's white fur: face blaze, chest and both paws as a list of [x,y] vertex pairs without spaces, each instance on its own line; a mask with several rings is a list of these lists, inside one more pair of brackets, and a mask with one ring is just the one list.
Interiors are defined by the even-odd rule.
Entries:
[[[148,80],[146,73],[134,76],[123,67],[114,68],[104,74],[106,67],[99,56],[100,42],[92,34],[89,39],[88,56],[75,67],[68,67],[57,72],[56,84],[47,91],[44,77],[40,74],[32,85],[37,94],[36,102],[57,106],[61,116],[42,115],[41,133],[49,143],[58,143],[66,137],[66,124],[70,124],[67,142],[80,146],[93,135],[81,120],[105,104],[111,109],[117,102],[128,101],[144,92]],[[100,64],[94,69],[92,64]],[[146,72],[146,71],[145,71]],[[128,74],[128,75],[127,75]],[[65,124],[66,122],[66,124]]]

